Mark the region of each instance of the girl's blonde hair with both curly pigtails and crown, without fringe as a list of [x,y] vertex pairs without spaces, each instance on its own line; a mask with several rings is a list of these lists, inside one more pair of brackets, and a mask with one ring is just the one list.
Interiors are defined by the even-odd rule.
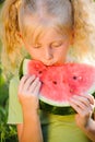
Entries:
[[[64,9],[69,12],[68,19],[63,14]],[[26,35],[26,31],[23,31],[23,26],[25,27],[24,17],[27,14],[34,16],[38,12],[40,12],[39,22],[43,22],[44,25],[47,23],[46,14],[52,14],[59,19],[59,23],[62,23],[63,26],[68,24],[74,31],[73,47],[70,48],[70,56],[73,60],[81,61],[83,58],[85,61],[86,57],[86,59],[91,60],[91,62],[93,60],[95,63],[95,3],[93,0],[5,0],[2,9],[1,28],[4,71],[16,71],[16,67],[25,56],[19,34],[21,32]],[[63,19],[66,19],[66,23],[63,23]]]

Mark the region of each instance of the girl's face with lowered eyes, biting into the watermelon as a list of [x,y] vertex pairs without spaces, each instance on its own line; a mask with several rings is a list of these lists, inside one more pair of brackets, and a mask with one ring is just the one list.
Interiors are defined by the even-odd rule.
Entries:
[[46,66],[63,63],[70,46],[70,36],[61,35],[56,29],[49,28],[41,34],[33,45],[26,44],[26,48],[33,59],[41,61]]

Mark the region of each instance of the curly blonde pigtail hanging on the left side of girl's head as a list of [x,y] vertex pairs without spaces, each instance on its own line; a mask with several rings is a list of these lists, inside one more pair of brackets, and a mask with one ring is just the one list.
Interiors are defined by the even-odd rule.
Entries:
[[19,8],[20,0],[5,0],[1,11],[1,62],[7,75],[17,72],[16,69],[23,58],[22,42],[19,35]]

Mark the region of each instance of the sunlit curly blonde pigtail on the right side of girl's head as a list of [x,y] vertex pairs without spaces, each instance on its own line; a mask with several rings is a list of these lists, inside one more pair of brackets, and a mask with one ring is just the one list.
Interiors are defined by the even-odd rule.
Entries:
[[72,56],[79,62],[95,66],[95,2],[94,0],[71,0],[74,11],[74,50]]

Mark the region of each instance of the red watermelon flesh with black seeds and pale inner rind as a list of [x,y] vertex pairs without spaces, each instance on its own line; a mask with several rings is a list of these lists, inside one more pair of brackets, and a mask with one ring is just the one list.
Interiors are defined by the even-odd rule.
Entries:
[[73,95],[95,92],[95,68],[81,63],[44,66],[36,60],[25,59],[23,74],[35,74],[41,81],[39,98],[54,106],[69,106]]

